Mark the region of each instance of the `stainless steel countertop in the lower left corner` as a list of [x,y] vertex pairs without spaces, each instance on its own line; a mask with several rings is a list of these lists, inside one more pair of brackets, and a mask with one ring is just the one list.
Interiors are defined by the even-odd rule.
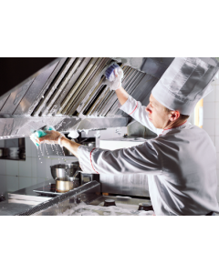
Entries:
[[8,200],[0,203],[0,216],[14,216],[51,199],[51,197],[41,197],[33,191],[36,188],[47,186],[49,183],[54,183],[54,180],[8,193]]

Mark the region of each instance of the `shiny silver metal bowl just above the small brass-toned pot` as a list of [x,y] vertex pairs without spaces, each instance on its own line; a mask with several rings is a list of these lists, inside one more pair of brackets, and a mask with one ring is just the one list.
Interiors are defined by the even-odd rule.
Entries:
[[74,177],[75,173],[80,170],[78,164],[62,164],[51,166],[51,174],[54,180],[57,180],[57,177]]

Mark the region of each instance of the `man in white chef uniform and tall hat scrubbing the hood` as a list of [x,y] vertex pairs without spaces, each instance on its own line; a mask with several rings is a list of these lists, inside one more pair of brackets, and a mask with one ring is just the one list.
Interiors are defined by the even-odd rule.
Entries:
[[110,88],[116,90],[120,109],[157,134],[138,147],[94,149],[72,143],[54,131],[38,143],[53,140],[67,147],[86,173],[147,174],[157,216],[213,216],[219,213],[216,150],[210,136],[188,122],[219,70],[215,59],[211,60],[176,57],[152,90],[147,107],[122,88],[120,67],[110,66],[106,76]]

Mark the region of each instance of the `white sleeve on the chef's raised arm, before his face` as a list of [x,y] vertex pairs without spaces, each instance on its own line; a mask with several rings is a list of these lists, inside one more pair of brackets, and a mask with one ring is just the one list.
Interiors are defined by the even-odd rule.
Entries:
[[142,126],[146,126],[158,136],[161,135],[163,130],[157,129],[155,126],[152,125],[148,113],[145,109],[146,106],[141,106],[141,102],[138,102],[132,96],[129,96],[127,102],[120,107],[120,110],[132,116],[135,120],[140,122]]

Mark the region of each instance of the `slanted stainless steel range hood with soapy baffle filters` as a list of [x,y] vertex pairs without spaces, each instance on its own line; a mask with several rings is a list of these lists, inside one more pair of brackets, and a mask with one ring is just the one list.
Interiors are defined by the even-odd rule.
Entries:
[[0,97],[0,138],[30,136],[43,126],[62,132],[127,126],[115,92],[104,85],[104,69],[117,61],[122,85],[147,105],[174,57],[57,57]]

